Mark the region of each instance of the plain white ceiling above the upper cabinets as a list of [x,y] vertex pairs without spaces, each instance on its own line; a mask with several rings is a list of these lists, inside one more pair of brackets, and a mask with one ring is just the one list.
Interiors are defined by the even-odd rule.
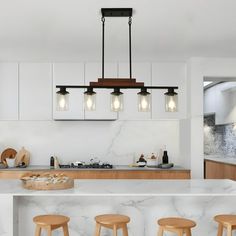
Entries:
[[[236,56],[235,0],[0,0],[0,60],[100,60],[101,7],[134,9],[134,61]],[[127,19],[106,27],[126,60]]]

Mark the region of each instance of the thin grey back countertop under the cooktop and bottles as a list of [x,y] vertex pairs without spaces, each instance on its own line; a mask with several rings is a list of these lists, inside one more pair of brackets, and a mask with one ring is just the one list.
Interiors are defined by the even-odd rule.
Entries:
[[79,169],[79,168],[59,168],[59,169],[51,169],[50,166],[46,165],[32,165],[28,166],[26,168],[6,168],[6,169],[0,169],[0,171],[50,171],[50,170],[63,170],[63,171],[71,171],[71,170],[78,170],[78,171],[83,171],[83,170],[101,170],[101,171],[114,171],[114,170],[145,170],[145,171],[150,171],[150,170],[156,170],[156,171],[163,171],[163,170],[189,170],[186,168],[183,168],[181,166],[174,166],[170,169],[161,169],[161,168],[151,168],[151,167],[130,167],[128,165],[114,165],[112,169]]

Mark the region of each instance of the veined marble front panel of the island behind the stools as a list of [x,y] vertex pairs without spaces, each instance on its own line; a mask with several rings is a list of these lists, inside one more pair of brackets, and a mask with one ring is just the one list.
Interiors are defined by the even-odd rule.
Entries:
[[[217,214],[236,214],[236,196],[155,196],[155,197],[83,197],[83,196],[24,196],[16,197],[18,206],[18,235],[34,235],[33,217],[40,214],[63,214],[70,217],[70,236],[93,236],[94,217],[118,213],[131,218],[129,236],[156,236],[157,220],[162,217],[185,217],[194,220],[193,236],[216,236]],[[45,234],[44,234],[45,235]],[[53,236],[61,236],[57,230]],[[121,232],[118,234],[121,236]],[[176,234],[165,233],[165,236]],[[235,236],[236,233],[233,234]],[[102,229],[101,236],[112,236]]]

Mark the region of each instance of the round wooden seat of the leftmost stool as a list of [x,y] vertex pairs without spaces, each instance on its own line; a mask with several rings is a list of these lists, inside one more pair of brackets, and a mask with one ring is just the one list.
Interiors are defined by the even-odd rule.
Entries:
[[35,216],[33,221],[40,226],[64,225],[70,221],[70,218],[62,215],[40,215]]

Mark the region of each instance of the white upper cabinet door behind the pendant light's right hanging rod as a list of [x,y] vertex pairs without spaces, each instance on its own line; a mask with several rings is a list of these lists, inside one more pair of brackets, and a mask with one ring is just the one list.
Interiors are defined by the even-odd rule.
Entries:
[[[151,86],[151,64],[150,63],[133,63],[132,65],[133,78],[137,82],[144,82],[145,86]],[[119,78],[129,77],[129,64],[119,63]],[[151,119],[150,112],[138,111],[138,95],[140,90],[124,89],[124,110],[119,112],[121,120],[145,120]],[[150,91],[149,91],[150,92]]]

